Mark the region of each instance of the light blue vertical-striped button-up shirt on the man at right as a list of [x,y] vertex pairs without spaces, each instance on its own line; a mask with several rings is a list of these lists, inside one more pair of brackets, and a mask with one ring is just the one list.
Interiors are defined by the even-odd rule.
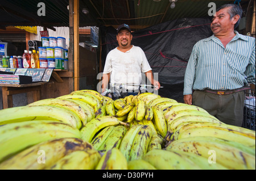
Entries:
[[184,95],[192,94],[192,90],[255,85],[255,38],[234,32],[236,36],[226,48],[214,35],[194,45],[185,71]]

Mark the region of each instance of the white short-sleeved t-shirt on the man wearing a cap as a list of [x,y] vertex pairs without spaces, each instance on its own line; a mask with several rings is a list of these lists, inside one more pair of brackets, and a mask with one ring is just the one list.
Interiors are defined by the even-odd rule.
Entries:
[[[145,53],[140,47],[134,46],[127,52],[121,52],[117,48],[111,50],[104,67],[104,74],[110,73],[110,85],[118,84],[140,84],[142,75],[149,70]],[[115,86],[115,87],[119,87]],[[125,89],[137,90],[138,86],[126,86]]]

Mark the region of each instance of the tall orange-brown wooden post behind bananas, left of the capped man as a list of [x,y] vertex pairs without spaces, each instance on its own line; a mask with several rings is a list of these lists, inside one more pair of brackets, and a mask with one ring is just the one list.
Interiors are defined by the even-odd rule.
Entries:
[[74,91],[79,90],[79,0],[74,0]]

